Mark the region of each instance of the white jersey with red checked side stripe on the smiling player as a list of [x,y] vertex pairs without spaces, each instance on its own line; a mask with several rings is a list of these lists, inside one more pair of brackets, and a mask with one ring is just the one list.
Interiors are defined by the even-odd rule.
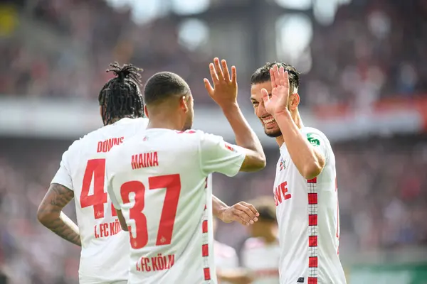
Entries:
[[279,224],[281,284],[344,284],[338,256],[339,209],[335,156],[325,134],[301,130],[326,163],[322,173],[305,180],[292,162],[285,143],[280,147],[274,182]]

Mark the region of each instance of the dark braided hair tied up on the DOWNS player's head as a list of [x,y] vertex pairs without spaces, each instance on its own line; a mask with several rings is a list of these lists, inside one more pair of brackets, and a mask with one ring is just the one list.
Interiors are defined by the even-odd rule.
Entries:
[[110,64],[107,72],[113,72],[115,77],[102,87],[98,102],[102,107],[104,125],[111,124],[124,117],[144,117],[144,103],[139,86],[142,85],[142,69],[119,63]]

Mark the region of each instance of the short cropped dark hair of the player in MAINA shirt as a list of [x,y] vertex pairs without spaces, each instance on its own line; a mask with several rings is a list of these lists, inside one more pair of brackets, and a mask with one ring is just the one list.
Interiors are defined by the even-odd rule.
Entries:
[[179,75],[172,72],[158,72],[145,83],[144,103],[158,104],[174,96],[189,94],[189,85]]

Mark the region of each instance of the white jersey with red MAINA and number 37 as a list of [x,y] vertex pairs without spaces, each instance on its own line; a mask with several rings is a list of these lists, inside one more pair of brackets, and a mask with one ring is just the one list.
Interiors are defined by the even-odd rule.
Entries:
[[147,129],[112,149],[108,192],[129,226],[129,283],[217,282],[206,178],[236,175],[244,158],[240,147],[193,130]]

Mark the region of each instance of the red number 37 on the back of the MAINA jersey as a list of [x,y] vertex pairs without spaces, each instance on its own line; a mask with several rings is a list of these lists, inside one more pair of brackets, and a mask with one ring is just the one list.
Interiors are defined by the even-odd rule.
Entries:
[[[171,244],[172,231],[178,207],[179,192],[181,192],[181,178],[175,175],[160,175],[148,179],[149,190],[166,189],[162,215],[160,216],[159,230],[157,231],[156,246]],[[130,234],[130,244],[133,249],[142,249],[148,243],[147,217],[144,213],[145,191],[147,188],[142,182],[125,182],[120,187],[123,203],[130,203],[130,193],[135,195],[135,204],[130,208],[129,217],[135,221],[135,233]],[[131,227],[129,226],[129,231]]]

